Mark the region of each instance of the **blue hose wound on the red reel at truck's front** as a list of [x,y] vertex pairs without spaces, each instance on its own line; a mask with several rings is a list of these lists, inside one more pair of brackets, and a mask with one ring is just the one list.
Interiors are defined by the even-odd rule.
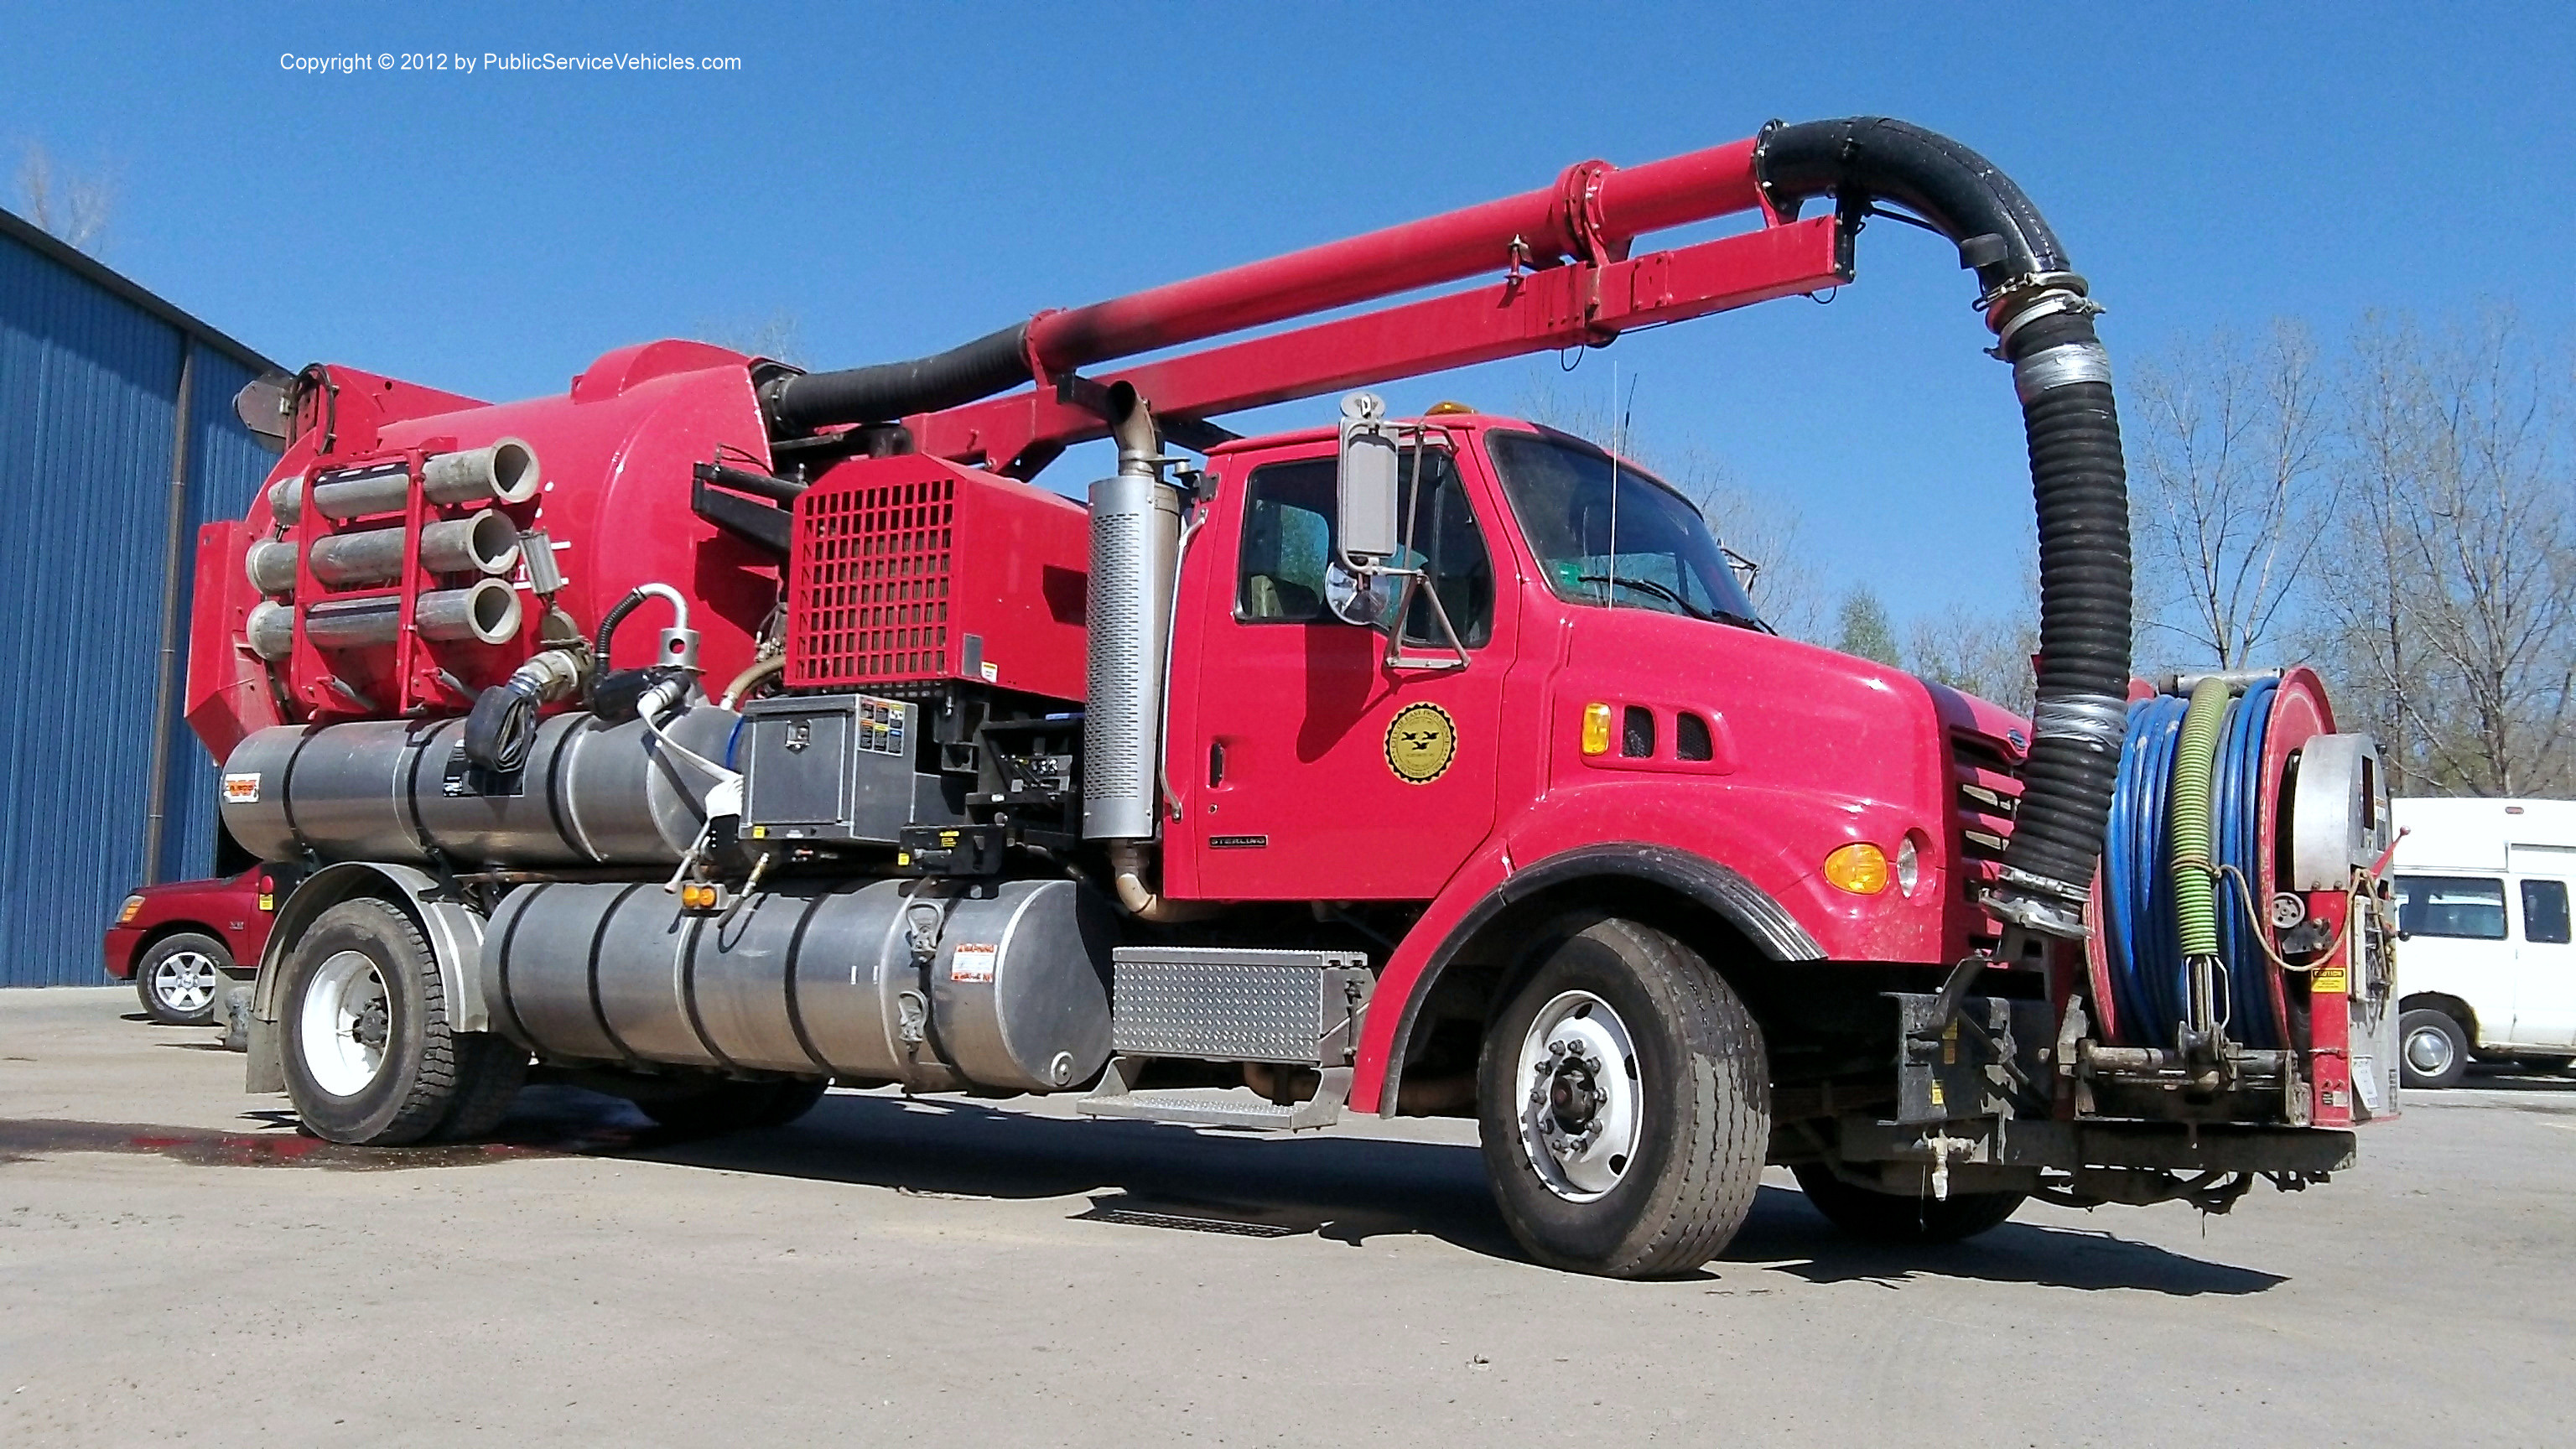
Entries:
[[[2254,681],[2228,704],[2213,771],[2210,817],[2218,864],[2262,879],[2262,755],[2272,724],[2272,681]],[[2128,745],[2102,851],[2102,954],[2110,967],[2117,1039],[2172,1047],[2190,1016],[2192,982],[2174,918],[2172,810],[2174,745],[2187,701],[2161,694],[2128,706]],[[2257,902],[2259,908],[2262,902]],[[2264,923],[2246,913],[2236,882],[2218,882],[2218,944],[2228,964],[2228,1034],[2257,1049],[2277,1047]]]

